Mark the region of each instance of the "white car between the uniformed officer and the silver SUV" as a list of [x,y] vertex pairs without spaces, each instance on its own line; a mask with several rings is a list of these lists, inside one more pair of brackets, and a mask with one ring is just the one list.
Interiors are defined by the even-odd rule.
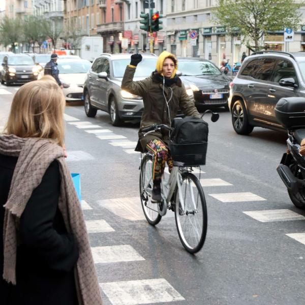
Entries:
[[63,83],[63,93],[67,102],[83,100],[83,84],[91,63],[86,59],[58,58],[59,79]]

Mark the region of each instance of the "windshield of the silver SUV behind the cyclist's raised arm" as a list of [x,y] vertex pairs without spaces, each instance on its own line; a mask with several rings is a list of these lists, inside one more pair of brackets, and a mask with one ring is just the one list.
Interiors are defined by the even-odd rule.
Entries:
[[[156,70],[157,58],[143,58],[138,64],[134,77],[148,77]],[[124,76],[126,66],[130,64],[130,58],[112,60],[113,76],[120,78]]]

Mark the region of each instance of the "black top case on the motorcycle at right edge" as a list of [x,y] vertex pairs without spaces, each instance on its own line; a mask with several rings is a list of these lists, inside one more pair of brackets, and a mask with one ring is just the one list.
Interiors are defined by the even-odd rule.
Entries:
[[275,107],[278,122],[286,129],[305,128],[305,98],[282,98]]

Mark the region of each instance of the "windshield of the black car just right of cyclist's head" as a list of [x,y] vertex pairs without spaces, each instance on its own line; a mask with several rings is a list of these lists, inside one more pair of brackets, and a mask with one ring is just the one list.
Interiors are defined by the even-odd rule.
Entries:
[[220,75],[219,69],[210,62],[200,60],[178,60],[178,70],[182,76]]

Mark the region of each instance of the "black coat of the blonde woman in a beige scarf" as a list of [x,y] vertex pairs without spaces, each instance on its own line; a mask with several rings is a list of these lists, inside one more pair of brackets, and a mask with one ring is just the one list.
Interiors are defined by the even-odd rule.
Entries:
[[16,157],[0,154],[0,303],[2,305],[76,305],[73,268],[78,249],[58,209],[59,165],[53,161],[33,191],[20,218],[16,282],[3,275],[3,222]]

